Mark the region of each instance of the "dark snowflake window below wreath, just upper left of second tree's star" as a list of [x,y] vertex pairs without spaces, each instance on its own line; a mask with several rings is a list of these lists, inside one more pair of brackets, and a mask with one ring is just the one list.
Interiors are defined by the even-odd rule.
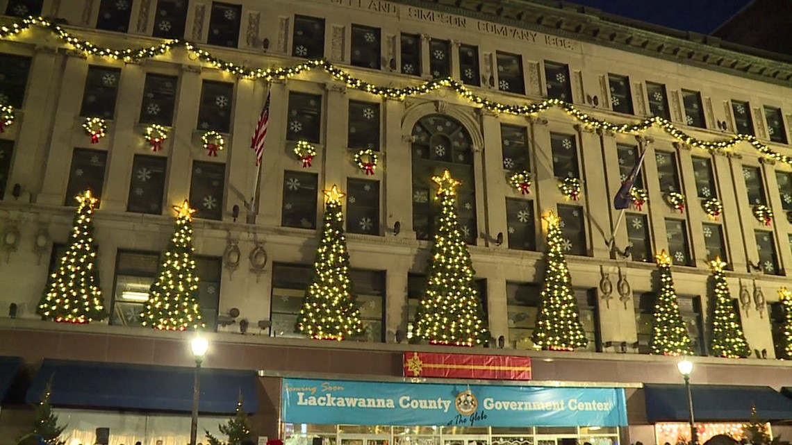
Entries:
[[168,158],[135,154],[127,211],[162,215],[162,195]]

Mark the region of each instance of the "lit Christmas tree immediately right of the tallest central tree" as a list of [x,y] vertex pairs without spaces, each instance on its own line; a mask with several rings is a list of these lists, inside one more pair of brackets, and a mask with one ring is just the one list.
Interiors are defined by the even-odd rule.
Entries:
[[535,348],[555,351],[585,348],[588,338],[583,331],[572,279],[566,267],[561,219],[552,211],[544,219],[547,222],[545,279],[531,339]]

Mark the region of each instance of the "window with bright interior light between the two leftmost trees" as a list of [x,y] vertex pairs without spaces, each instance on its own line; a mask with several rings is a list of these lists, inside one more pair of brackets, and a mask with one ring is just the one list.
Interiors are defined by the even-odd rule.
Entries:
[[158,253],[118,251],[110,324],[141,325],[140,313],[148,299],[151,284],[157,280],[158,268]]

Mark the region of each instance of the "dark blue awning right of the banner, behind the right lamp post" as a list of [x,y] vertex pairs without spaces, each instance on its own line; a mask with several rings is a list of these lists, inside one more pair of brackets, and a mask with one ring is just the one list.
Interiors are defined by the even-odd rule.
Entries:
[[[762,420],[792,419],[792,401],[770,386],[691,385],[695,420],[749,420],[751,407]],[[687,421],[684,385],[644,384],[650,423]]]

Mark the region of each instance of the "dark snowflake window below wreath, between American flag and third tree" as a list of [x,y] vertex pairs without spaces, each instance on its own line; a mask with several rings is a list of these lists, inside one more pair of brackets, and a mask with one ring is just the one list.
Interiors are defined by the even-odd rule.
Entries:
[[280,225],[300,229],[316,228],[316,173],[284,172],[284,203],[280,209]]

